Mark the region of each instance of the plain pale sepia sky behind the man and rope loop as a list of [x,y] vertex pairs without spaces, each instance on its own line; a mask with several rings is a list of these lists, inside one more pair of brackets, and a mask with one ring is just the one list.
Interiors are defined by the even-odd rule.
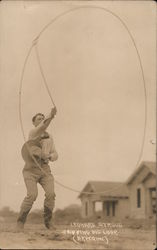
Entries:
[[[137,168],[143,138],[140,162],[155,161],[155,146],[150,143],[156,137],[155,3],[4,1],[0,5],[0,208],[10,206],[18,211],[26,195],[19,121],[24,60],[43,27],[79,6],[49,25],[38,41],[41,64],[57,106],[57,116],[48,128],[59,154],[51,164],[52,173],[57,181],[78,191],[89,180],[124,182]],[[130,35],[111,12],[123,20],[134,38],[145,83]],[[22,84],[22,121],[27,137],[32,116],[48,114],[52,107],[34,49]],[[80,204],[79,192],[57,183],[55,192],[56,208]],[[42,208],[43,199],[39,186],[33,208]]]

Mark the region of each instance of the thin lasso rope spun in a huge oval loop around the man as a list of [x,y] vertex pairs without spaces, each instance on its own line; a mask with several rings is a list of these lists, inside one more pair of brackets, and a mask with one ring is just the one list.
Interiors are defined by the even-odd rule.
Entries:
[[[48,87],[48,84],[47,84],[47,81],[46,81],[46,77],[44,75],[44,70],[43,70],[43,67],[42,67],[42,64],[41,64],[41,60],[40,60],[40,56],[39,56],[39,50],[38,50],[38,41],[40,39],[40,36],[44,33],[44,31],[51,25],[53,24],[56,20],[58,20],[59,18],[65,16],[66,14],[70,13],[70,12],[73,12],[73,11],[76,11],[76,10],[79,10],[79,9],[83,9],[83,8],[94,8],[94,9],[99,9],[99,10],[103,10],[103,11],[106,11],[108,13],[110,13],[111,15],[113,15],[114,17],[116,17],[120,22],[121,24],[125,27],[125,29],[127,30],[130,38],[131,38],[131,41],[134,45],[134,48],[136,50],[136,53],[137,53],[137,57],[138,57],[138,60],[139,60],[139,64],[140,64],[140,68],[141,68],[141,72],[142,72],[142,79],[143,79],[143,86],[144,86],[144,97],[145,97],[145,105],[144,105],[144,114],[145,114],[145,119],[144,119],[144,131],[143,131],[143,138],[142,138],[142,144],[141,144],[141,150],[140,150],[140,153],[139,153],[139,157],[138,157],[138,160],[137,160],[137,163],[136,163],[136,167],[138,167],[140,161],[141,161],[141,158],[142,158],[142,154],[143,154],[143,149],[144,149],[144,141],[145,141],[145,134],[146,134],[146,124],[147,124],[147,92],[146,92],[146,83],[145,83],[145,77],[144,77],[144,70],[143,70],[143,66],[142,66],[142,62],[141,62],[141,58],[140,58],[140,54],[139,54],[139,51],[137,49],[137,46],[136,46],[136,43],[135,43],[135,40],[131,34],[131,32],[129,31],[127,25],[125,24],[125,22],[118,16],[116,15],[114,12],[106,9],[106,8],[103,8],[103,7],[98,7],[98,6],[79,6],[79,7],[75,7],[75,8],[72,8],[70,10],[67,10],[61,14],[59,14],[58,16],[56,16],[55,18],[53,18],[42,30],[41,32],[39,33],[39,35],[33,40],[32,42],[32,45],[27,53],[27,56],[25,58],[25,61],[24,61],[24,65],[23,65],[23,70],[22,70],[22,74],[21,74],[21,80],[20,80],[20,90],[19,90],[19,117],[20,117],[20,125],[21,125],[21,130],[22,130],[22,134],[23,134],[23,138],[24,138],[24,141],[26,142],[26,137],[25,137],[25,133],[24,133],[24,126],[23,126],[23,121],[22,121],[22,111],[21,111],[21,94],[22,94],[22,84],[23,84],[23,78],[24,78],[24,72],[25,72],[25,68],[26,68],[26,65],[27,65],[27,62],[28,62],[28,59],[29,59],[29,56],[32,52],[32,49],[35,48],[35,53],[36,53],[36,58],[37,58],[37,62],[38,62],[38,65],[39,65],[39,70],[41,72],[41,76],[43,78],[43,83],[46,87],[46,90],[47,90],[47,93],[51,99],[51,102],[53,104],[54,107],[56,107],[55,103],[54,103],[54,100],[52,98],[52,95],[51,95],[51,92],[49,90],[49,87]],[[26,143],[26,146],[27,146],[27,143]],[[29,148],[27,146],[27,149],[28,149],[28,152],[29,151]],[[40,168],[40,170],[42,171],[42,173],[44,173],[45,175],[47,175],[47,173],[42,169],[42,167],[39,165],[39,163],[36,161],[35,157],[33,155],[32,156],[32,159],[34,160],[34,162],[36,163],[36,165]],[[119,184],[117,185],[117,187],[113,188],[113,189],[109,189],[109,190],[105,190],[105,191],[102,191],[102,192],[82,192],[82,191],[79,191],[79,190],[76,190],[76,189],[73,189],[69,186],[66,186],[60,182],[58,182],[57,180],[55,180],[55,183],[57,183],[58,185],[62,186],[63,188],[65,189],[68,189],[70,191],[73,191],[73,192],[77,192],[77,193],[81,193],[81,194],[104,194],[106,192],[109,192],[109,191],[114,191],[114,190],[117,190],[119,188],[122,187],[122,184]]]

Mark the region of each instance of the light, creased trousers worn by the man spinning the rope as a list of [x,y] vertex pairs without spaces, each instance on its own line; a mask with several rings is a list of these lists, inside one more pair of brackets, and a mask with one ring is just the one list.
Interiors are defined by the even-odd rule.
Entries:
[[23,177],[27,189],[27,196],[24,198],[21,204],[21,212],[30,211],[34,201],[38,196],[37,183],[39,183],[45,191],[44,207],[53,210],[55,205],[55,193],[54,193],[54,177],[51,174],[50,168],[44,169],[47,173],[45,175],[37,169],[35,171],[24,169]]

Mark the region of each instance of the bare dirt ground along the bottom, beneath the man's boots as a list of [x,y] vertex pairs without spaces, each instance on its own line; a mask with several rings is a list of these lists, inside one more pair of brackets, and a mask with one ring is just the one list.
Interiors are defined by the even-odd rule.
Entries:
[[[56,231],[45,229],[42,224],[29,224],[23,232],[16,232],[16,223],[0,223],[1,249],[113,249],[113,250],[154,250],[155,226],[149,229],[123,227],[118,235],[81,238],[65,234],[68,226],[57,226]],[[69,231],[68,231],[69,232]],[[80,239],[80,238],[79,238]],[[83,240],[82,240],[83,239]]]

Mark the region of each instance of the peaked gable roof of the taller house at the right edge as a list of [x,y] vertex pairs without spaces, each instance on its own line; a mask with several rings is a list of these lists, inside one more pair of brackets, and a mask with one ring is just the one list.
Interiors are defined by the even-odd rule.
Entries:
[[153,175],[156,175],[156,163],[150,162],[150,161],[144,161],[140,164],[138,168],[135,169],[135,171],[126,181],[126,184],[130,184],[136,178],[136,176],[141,172],[143,168],[147,168],[150,173],[152,173]]

